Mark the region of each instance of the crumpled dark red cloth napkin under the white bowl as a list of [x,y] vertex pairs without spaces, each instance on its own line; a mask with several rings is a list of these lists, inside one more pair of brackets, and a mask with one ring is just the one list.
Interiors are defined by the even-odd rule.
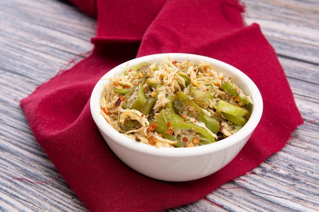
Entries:
[[[199,200],[280,150],[303,123],[276,52],[257,24],[245,26],[236,0],[72,2],[91,16],[97,11],[93,53],[40,85],[21,107],[35,138],[90,211],[155,211]],[[248,143],[205,178],[171,183],[131,170],[91,117],[91,90],[103,74],[128,59],[161,52],[223,60],[251,77],[262,94],[264,112]]]

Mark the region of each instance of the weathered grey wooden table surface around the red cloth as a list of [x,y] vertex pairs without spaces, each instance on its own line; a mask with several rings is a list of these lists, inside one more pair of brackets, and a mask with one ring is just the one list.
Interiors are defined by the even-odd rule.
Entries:
[[[319,2],[243,2],[247,24],[259,23],[275,48],[305,123],[250,174],[166,211],[319,211]],[[1,211],[87,211],[35,140],[19,100],[91,50],[96,25],[66,1],[0,1]]]

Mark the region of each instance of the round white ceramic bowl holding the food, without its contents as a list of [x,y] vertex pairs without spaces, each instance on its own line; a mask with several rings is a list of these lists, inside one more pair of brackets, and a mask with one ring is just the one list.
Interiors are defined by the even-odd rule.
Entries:
[[[119,75],[123,68],[135,66],[142,62],[159,63],[170,56],[173,60],[190,60],[198,63],[203,60],[214,67],[217,72],[231,77],[232,82],[248,93],[253,101],[251,116],[246,125],[234,135],[215,143],[190,147],[168,148],[155,147],[131,140],[111,127],[100,114],[100,99],[103,84],[114,74]],[[90,108],[94,122],[103,138],[117,157],[132,169],[155,179],[167,181],[187,181],[208,176],[226,166],[243,148],[262,114],[262,98],[255,83],[243,72],[213,58],[186,53],[163,53],[138,57],[125,62],[105,74],[95,85]]]

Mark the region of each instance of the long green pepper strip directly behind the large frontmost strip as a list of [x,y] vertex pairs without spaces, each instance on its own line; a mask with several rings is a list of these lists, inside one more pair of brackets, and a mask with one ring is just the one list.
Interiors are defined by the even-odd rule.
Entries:
[[212,132],[219,131],[219,122],[217,119],[204,114],[202,108],[193,100],[190,100],[184,93],[177,92],[173,97],[173,105],[175,112],[178,115],[183,115],[185,112],[188,116],[202,122]]

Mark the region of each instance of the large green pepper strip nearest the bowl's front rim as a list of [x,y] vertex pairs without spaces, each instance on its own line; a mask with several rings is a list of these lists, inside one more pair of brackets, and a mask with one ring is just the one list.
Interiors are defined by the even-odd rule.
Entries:
[[[154,131],[169,140],[182,140],[182,137],[188,137],[192,141],[192,138],[196,136],[200,139],[200,145],[215,142],[215,138],[207,130],[168,109],[161,110],[150,123],[150,125],[153,124],[156,124]],[[168,133],[169,128],[173,130],[173,133],[172,131]]]

